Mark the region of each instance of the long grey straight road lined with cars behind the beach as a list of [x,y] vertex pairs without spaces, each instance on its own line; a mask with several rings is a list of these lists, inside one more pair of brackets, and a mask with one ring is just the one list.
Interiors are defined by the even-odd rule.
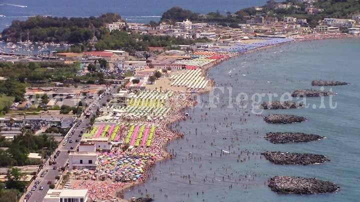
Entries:
[[[111,91],[114,91],[117,88],[113,88],[113,86],[111,86]],[[91,109],[88,109],[89,111],[93,111],[93,113],[90,115],[90,118],[92,116],[94,116],[97,108],[99,106],[102,106],[103,103],[106,103],[106,100],[110,98],[109,95],[105,95],[102,97],[101,100],[99,100],[98,103],[95,104],[95,106],[93,106]],[[91,107],[91,105],[89,106],[89,108]],[[43,198],[46,196],[47,191],[49,190],[49,185],[47,184],[48,181],[51,181],[51,183],[55,183],[55,176],[61,175],[61,171],[58,171],[58,169],[60,167],[64,167],[66,166],[66,163],[68,161],[68,153],[67,151],[70,150],[70,147],[73,147],[73,150],[76,149],[76,147],[79,145],[80,141],[76,142],[75,140],[80,140],[81,137],[79,137],[80,135],[80,131],[82,130],[82,128],[86,128],[87,124],[89,124],[90,122],[90,118],[86,119],[85,116],[83,116],[83,118],[81,118],[81,122],[79,123],[79,125],[75,128],[73,127],[72,131],[74,131],[73,135],[71,138],[69,138],[69,141],[72,140],[72,143],[69,143],[69,141],[67,142],[66,145],[62,145],[62,142],[59,143],[59,147],[57,150],[60,151],[60,154],[58,155],[58,157],[55,159],[56,160],[56,164],[55,165],[51,165],[49,166],[48,163],[47,165],[45,165],[41,171],[39,172],[39,174],[36,177],[36,180],[41,180],[40,184],[37,185],[37,188],[35,191],[32,192],[31,197],[28,199],[27,202],[42,202]],[[77,122],[74,124],[76,126]],[[69,132],[66,136],[68,137],[68,135],[71,134],[71,132]],[[57,151],[56,150],[56,151]],[[55,152],[56,152],[55,151]],[[51,155],[51,157],[53,157],[53,155],[55,154],[55,152]],[[55,170],[53,170],[53,167],[56,167]],[[40,174],[42,173],[42,171],[47,170],[48,172],[44,175],[44,177],[40,177]],[[43,187],[43,190],[39,190],[40,186]],[[25,193],[26,194],[26,193]]]

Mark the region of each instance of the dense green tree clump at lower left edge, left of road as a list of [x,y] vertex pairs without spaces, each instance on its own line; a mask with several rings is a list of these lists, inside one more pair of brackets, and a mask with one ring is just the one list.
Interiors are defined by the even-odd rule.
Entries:
[[0,166],[23,166],[38,165],[38,160],[30,160],[27,155],[30,152],[42,154],[43,148],[47,148],[43,156],[48,156],[57,147],[57,142],[46,135],[34,136],[33,131],[25,129],[22,135],[15,136],[13,141],[0,137],[0,147],[7,147],[8,150],[0,150]]

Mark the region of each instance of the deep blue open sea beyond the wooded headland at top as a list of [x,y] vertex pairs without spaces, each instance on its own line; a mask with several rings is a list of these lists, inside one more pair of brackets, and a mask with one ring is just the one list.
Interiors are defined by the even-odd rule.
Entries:
[[29,16],[99,16],[115,12],[127,22],[159,21],[173,6],[193,12],[235,12],[244,7],[263,5],[266,0],[0,0],[0,30],[12,20],[26,20]]

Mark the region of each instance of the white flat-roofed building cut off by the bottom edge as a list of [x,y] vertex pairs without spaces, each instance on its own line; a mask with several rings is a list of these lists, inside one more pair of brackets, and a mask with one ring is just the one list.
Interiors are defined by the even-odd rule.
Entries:
[[87,202],[86,190],[48,190],[43,202]]

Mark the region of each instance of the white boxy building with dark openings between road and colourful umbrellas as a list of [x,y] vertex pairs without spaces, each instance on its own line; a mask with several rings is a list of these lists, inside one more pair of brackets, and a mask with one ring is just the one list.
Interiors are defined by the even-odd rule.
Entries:
[[70,152],[70,169],[95,170],[97,165],[97,152]]

